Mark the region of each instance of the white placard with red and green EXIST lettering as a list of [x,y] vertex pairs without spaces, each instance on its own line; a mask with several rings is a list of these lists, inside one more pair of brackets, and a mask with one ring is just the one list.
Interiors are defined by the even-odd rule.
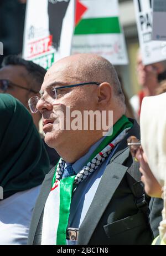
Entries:
[[74,0],[27,1],[23,58],[48,69],[70,55],[74,4]]

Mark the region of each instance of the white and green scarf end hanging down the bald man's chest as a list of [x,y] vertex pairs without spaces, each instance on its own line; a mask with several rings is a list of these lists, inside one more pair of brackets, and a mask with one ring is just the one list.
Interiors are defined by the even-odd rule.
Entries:
[[44,207],[42,245],[66,244],[74,179],[75,176],[56,180],[51,188]]

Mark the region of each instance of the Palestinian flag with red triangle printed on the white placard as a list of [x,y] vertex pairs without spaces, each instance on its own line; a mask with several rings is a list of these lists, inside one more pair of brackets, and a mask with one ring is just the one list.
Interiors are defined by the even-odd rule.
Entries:
[[121,33],[117,0],[76,0],[75,35]]

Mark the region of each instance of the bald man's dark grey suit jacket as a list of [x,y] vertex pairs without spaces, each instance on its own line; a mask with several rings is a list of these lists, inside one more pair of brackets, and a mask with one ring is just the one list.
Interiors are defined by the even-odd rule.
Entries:
[[[132,122],[133,128],[120,142],[103,173],[95,197],[79,228],[78,244],[151,244],[152,230],[155,236],[158,234],[162,200],[153,199],[151,204],[151,218],[149,218],[152,223],[151,230],[149,219],[138,209],[136,198],[128,183],[129,170],[132,170],[136,176],[140,176],[139,165],[133,162],[126,142],[130,135],[136,135],[139,138],[139,126],[136,121]],[[28,244],[41,243],[43,210],[51,189],[53,174],[54,168],[44,179],[33,213]],[[154,204],[155,207],[153,207]],[[158,218],[155,221],[153,217]]]

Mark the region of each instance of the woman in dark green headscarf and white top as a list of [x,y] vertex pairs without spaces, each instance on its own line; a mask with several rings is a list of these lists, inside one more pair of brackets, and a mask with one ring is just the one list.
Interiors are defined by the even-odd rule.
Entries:
[[0,94],[0,244],[27,244],[49,164],[27,109],[11,95]]

